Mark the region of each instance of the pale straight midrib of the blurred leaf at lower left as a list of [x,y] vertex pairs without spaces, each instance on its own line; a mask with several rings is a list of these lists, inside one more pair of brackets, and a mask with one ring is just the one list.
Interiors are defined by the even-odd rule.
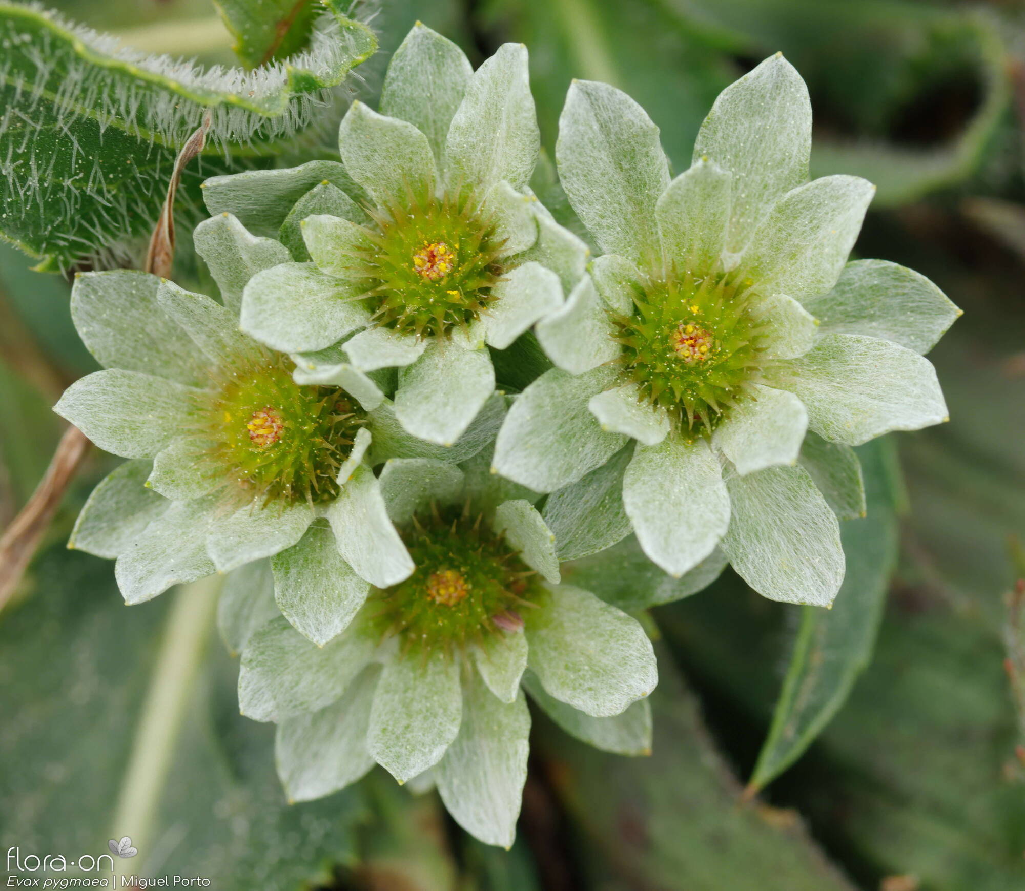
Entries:
[[[167,616],[111,835],[114,839],[129,836],[142,855],[152,850],[155,818],[213,627],[222,580],[222,576],[208,576],[183,586]],[[132,864],[132,860],[116,858],[115,872],[140,872]]]

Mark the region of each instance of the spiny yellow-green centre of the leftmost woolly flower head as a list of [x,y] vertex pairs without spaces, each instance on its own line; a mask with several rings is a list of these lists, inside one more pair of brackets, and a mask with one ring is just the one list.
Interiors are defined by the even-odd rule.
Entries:
[[197,467],[235,490],[233,501],[313,504],[338,494],[335,477],[363,412],[338,387],[299,386],[292,369],[285,356],[261,350],[222,370],[197,399]]

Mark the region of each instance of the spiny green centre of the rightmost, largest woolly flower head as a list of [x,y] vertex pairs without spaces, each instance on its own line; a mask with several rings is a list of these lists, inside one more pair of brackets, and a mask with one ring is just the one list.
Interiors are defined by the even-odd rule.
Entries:
[[708,435],[762,378],[767,326],[743,284],[690,273],[651,281],[613,313],[624,374],[680,429]]

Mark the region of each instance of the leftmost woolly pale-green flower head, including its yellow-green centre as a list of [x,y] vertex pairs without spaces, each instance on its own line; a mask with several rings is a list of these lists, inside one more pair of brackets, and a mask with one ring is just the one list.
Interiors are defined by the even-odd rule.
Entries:
[[[394,455],[475,454],[494,436],[500,397],[440,450],[402,430],[368,375],[295,383],[291,360],[241,334],[231,308],[253,271],[287,258],[285,247],[227,216],[195,240],[228,306],[144,272],[76,279],[75,324],[107,370],[73,384],[55,411],[131,460],[92,493],[70,546],[116,558],[122,594],[138,603],[287,552],[323,517],[343,531],[337,550],[348,560],[338,556],[332,584],[358,598],[371,583],[405,578],[413,566],[368,467]],[[282,608],[318,643],[344,627],[341,616],[325,626]]]

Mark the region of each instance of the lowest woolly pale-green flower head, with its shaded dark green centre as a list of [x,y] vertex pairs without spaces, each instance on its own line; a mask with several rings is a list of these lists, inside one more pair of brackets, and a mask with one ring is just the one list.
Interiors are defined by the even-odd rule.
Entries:
[[[651,642],[634,619],[562,583],[536,494],[493,476],[489,463],[489,452],[461,466],[388,461],[379,490],[414,574],[372,592],[323,647],[280,618],[248,633],[240,705],[278,723],[289,798],[328,795],[377,763],[416,790],[437,784],[460,825],[509,847],[530,748],[521,686],[591,745],[650,749]],[[311,609],[348,614],[330,584],[339,560],[327,529],[311,527],[299,547],[272,561],[279,602],[284,585]],[[258,592],[247,587],[248,602],[235,602],[251,612]]]

